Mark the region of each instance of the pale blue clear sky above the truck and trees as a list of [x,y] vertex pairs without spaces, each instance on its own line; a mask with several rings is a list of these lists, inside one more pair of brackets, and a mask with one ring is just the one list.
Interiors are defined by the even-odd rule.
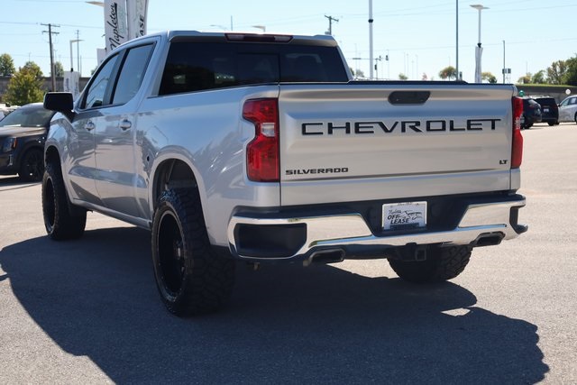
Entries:
[[[11,55],[16,69],[32,60],[50,76],[49,27],[44,25],[50,23],[58,33],[52,34],[55,60],[69,69],[72,57],[78,69],[80,59],[82,76],[90,76],[96,49],[105,47],[103,7],[84,0],[0,1],[0,54]],[[527,72],[577,55],[575,0],[149,0],[147,29],[314,35],[328,32],[330,17],[349,66],[368,77],[371,3],[373,78],[398,79],[402,73],[439,80],[441,69],[457,67],[458,54],[463,80],[473,82],[480,25],[474,4],[488,7],[481,11],[482,71],[499,83],[504,67],[510,69],[505,81],[515,83]]]

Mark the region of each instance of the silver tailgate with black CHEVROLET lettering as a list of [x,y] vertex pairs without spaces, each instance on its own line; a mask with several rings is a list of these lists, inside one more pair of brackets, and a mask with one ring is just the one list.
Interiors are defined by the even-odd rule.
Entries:
[[506,85],[280,86],[283,206],[508,190]]

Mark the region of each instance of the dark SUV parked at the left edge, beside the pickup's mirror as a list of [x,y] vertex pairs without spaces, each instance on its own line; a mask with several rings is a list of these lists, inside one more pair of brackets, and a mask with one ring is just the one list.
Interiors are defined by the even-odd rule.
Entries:
[[44,142],[55,113],[41,103],[23,105],[0,121],[0,175],[39,181],[44,174]]

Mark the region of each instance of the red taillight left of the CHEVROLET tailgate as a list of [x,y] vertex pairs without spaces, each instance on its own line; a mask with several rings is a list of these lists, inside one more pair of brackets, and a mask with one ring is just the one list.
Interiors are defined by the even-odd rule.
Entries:
[[255,137],[246,147],[249,179],[279,181],[279,101],[252,99],[243,105],[243,118],[252,122]]

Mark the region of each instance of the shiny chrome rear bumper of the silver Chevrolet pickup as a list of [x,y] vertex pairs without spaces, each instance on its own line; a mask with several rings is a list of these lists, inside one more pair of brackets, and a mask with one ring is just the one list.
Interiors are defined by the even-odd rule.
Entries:
[[[520,196],[518,196],[520,197]],[[231,252],[235,257],[248,260],[287,260],[307,259],[311,254],[319,252],[342,252],[343,257],[354,251],[375,252],[380,255],[389,248],[407,245],[440,244],[485,246],[498,244],[527,231],[526,225],[517,224],[517,210],[525,206],[524,197],[507,202],[491,202],[467,206],[464,214],[455,228],[449,231],[419,231],[405,234],[373,234],[362,215],[357,213],[344,215],[316,215],[301,217],[254,217],[251,215],[234,215],[228,225],[228,240]],[[272,250],[265,234],[262,243],[265,250],[259,248],[257,242],[252,247],[244,247],[243,226],[252,226],[258,238],[259,230],[275,226],[280,234],[283,226],[303,229],[302,240],[291,243],[284,252]],[[279,235],[281,237],[281,235]],[[266,248],[270,254],[265,255]],[[254,252],[258,250],[258,252]]]

